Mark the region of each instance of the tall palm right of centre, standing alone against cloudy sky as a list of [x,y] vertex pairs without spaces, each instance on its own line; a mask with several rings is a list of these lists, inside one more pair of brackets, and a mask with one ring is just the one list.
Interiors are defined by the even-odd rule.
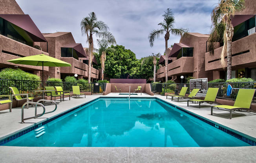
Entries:
[[[153,47],[154,41],[156,38],[159,38],[160,35],[165,34],[165,53],[167,53],[168,50],[168,40],[170,38],[170,33],[174,34],[175,36],[181,36],[181,38],[188,33],[188,29],[184,28],[174,28],[174,14],[172,13],[172,9],[168,8],[165,11],[165,14],[163,14],[164,21],[159,23],[158,25],[161,25],[160,29],[154,29],[151,31],[151,33],[148,35],[150,47]],[[165,80],[167,82],[168,80],[168,55],[165,55]]]

